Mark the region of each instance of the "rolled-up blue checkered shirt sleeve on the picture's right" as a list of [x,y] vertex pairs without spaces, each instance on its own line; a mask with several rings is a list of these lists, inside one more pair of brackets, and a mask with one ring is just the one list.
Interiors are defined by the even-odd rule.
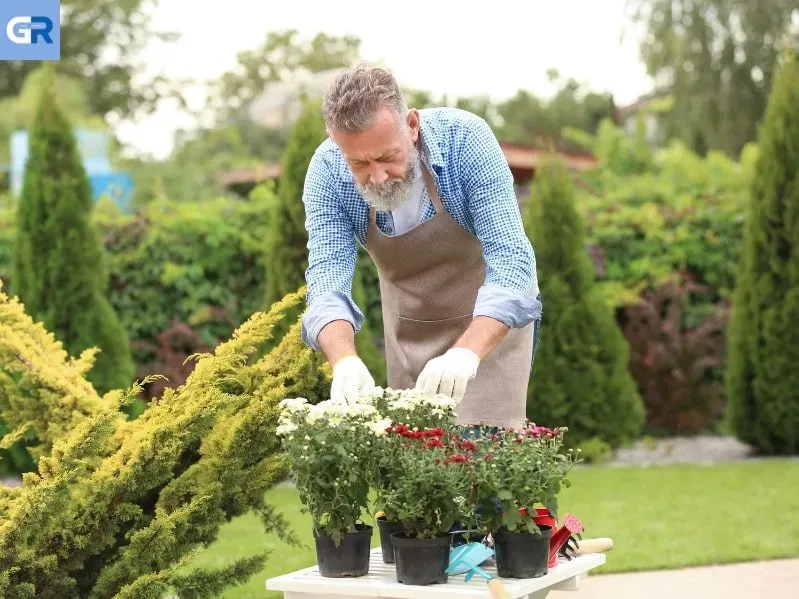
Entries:
[[483,119],[473,121],[460,163],[469,215],[486,263],[474,316],[524,327],[542,314],[535,252],[524,231],[508,161]]

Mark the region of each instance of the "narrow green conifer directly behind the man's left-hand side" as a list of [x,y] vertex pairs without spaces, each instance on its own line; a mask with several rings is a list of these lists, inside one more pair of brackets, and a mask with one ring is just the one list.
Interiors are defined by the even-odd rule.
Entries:
[[[306,99],[283,154],[277,199],[269,210],[267,220],[267,305],[305,284],[305,269],[308,267],[308,233],[305,230],[302,193],[311,158],[319,144],[326,138],[320,101]],[[364,260],[363,256],[359,258],[361,261]],[[360,269],[356,269],[352,287],[353,299],[363,306],[366,292]],[[287,320],[293,321],[298,314],[299,312],[290,313]],[[382,355],[374,345],[368,322],[365,322],[359,331],[356,345],[376,381],[382,381],[385,378],[385,366]]]

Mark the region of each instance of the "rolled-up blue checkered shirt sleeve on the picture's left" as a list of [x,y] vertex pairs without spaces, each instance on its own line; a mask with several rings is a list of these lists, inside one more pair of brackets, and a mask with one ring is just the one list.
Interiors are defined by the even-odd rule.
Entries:
[[302,340],[320,350],[320,331],[334,320],[346,320],[357,333],[364,316],[352,299],[357,260],[353,225],[341,209],[335,173],[317,150],[308,166],[303,187],[305,228],[308,232],[308,268],[305,271],[308,309],[302,318]]

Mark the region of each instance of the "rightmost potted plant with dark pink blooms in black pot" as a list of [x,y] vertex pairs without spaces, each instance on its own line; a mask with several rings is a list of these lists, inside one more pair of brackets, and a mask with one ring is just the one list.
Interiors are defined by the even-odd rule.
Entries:
[[536,505],[556,515],[558,493],[569,485],[576,454],[563,451],[565,433],[530,424],[475,440],[475,518],[492,534],[500,577],[535,578],[548,571],[552,527],[536,524],[533,516]]

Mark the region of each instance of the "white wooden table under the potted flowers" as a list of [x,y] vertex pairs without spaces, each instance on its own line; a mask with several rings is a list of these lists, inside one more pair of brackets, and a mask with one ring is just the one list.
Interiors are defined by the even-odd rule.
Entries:
[[[475,574],[468,583],[465,574],[450,576],[446,584],[413,586],[397,582],[394,564],[384,564],[380,548],[373,549],[369,574],[360,578],[325,578],[317,566],[270,578],[266,588],[283,591],[284,599],[335,599],[343,597],[387,597],[391,599],[488,599],[488,585]],[[580,555],[571,561],[561,557],[558,565],[539,578],[502,578],[502,584],[513,599],[543,599],[549,591],[576,591],[582,578],[592,568],[605,563],[604,553]],[[483,568],[496,575],[495,567]]]

